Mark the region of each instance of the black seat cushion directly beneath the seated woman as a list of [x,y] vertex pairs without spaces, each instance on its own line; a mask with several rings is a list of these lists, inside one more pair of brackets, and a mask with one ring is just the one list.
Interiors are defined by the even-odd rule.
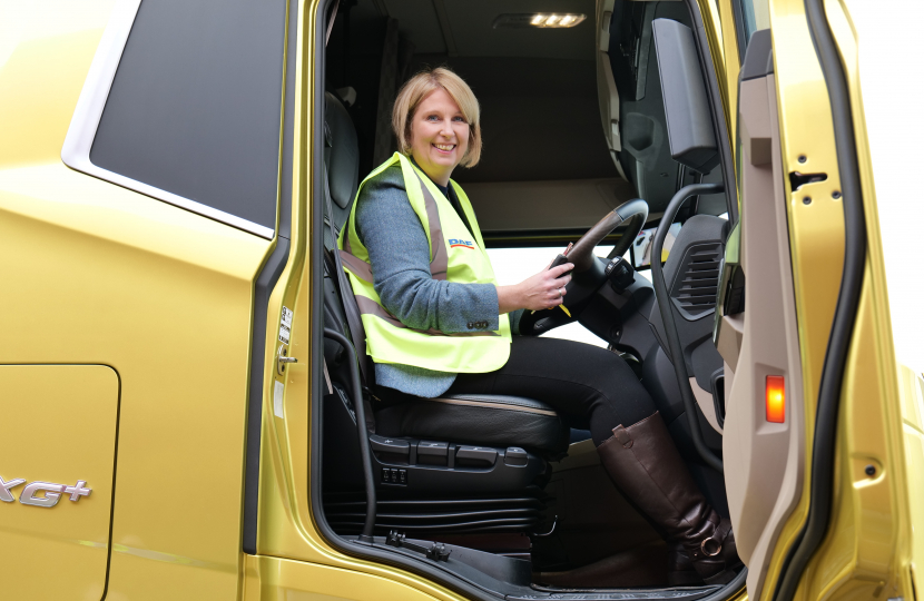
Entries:
[[570,428],[539,401],[497,394],[453,394],[439,398],[405,395],[375,412],[375,431],[461,444],[521,446],[559,453]]

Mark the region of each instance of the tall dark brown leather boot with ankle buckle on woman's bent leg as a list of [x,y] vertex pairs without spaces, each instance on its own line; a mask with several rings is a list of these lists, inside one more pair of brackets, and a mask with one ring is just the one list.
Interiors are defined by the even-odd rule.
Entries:
[[661,415],[618,425],[612,434],[597,452],[617,487],[684,545],[702,580],[730,581],[741,563],[731,524],[699,492]]

